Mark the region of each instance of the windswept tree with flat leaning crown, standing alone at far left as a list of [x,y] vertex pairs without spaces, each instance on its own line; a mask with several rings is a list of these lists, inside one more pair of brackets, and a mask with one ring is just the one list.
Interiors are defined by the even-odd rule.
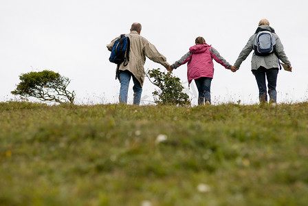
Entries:
[[44,102],[74,104],[75,91],[67,91],[71,80],[59,73],[49,70],[32,71],[21,74],[19,79],[21,82],[17,85],[17,89],[11,92],[14,95],[33,97]]

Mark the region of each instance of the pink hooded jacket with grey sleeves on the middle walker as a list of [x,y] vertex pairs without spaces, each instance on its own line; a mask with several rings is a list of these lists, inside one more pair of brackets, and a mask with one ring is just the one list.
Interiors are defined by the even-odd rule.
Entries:
[[189,48],[189,52],[177,60],[171,68],[187,64],[187,78],[188,85],[192,80],[201,77],[213,78],[214,63],[212,59],[221,64],[225,69],[230,69],[231,65],[227,62],[211,45],[204,43],[204,45],[194,45]]

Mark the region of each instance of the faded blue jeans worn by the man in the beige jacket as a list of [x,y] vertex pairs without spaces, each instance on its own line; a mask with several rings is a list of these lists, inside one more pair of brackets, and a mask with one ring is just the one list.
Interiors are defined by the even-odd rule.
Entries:
[[119,101],[120,103],[127,104],[127,95],[129,93],[129,82],[131,81],[131,77],[133,77],[133,104],[139,105],[141,101],[141,93],[142,87],[140,82],[133,76],[133,74],[127,70],[120,71],[120,95]]

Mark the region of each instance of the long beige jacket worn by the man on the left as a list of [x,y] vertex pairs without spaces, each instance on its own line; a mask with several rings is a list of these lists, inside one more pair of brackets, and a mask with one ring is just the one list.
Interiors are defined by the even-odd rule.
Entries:
[[[120,65],[120,70],[131,71],[142,87],[144,82],[144,63],[146,62],[146,56],[164,67],[168,67],[169,64],[166,62],[166,57],[160,54],[154,45],[147,41],[143,36],[140,36],[137,32],[132,31],[130,34],[126,34],[125,36],[129,36],[129,40],[131,41],[129,64],[124,67],[122,63]],[[113,39],[113,41],[107,45],[109,51],[112,50],[115,41],[119,38],[120,36]]]

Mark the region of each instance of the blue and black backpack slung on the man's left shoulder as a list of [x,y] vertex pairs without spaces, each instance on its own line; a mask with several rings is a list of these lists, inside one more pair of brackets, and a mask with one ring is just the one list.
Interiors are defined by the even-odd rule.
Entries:
[[118,66],[124,62],[124,67],[129,63],[129,47],[131,43],[129,37],[121,34],[120,38],[115,41],[109,61],[117,64]]

